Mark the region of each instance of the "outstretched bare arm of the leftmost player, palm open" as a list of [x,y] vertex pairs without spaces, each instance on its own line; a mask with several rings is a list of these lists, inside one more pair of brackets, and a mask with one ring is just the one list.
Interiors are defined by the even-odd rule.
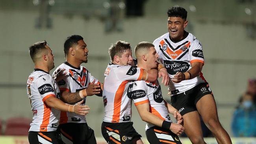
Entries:
[[49,107],[53,107],[58,109],[59,111],[72,112],[80,115],[86,115],[88,110],[90,109],[87,105],[80,105],[83,101],[76,103],[76,105],[69,105],[67,103],[63,103],[61,100],[54,96],[49,96],[45,103]]

